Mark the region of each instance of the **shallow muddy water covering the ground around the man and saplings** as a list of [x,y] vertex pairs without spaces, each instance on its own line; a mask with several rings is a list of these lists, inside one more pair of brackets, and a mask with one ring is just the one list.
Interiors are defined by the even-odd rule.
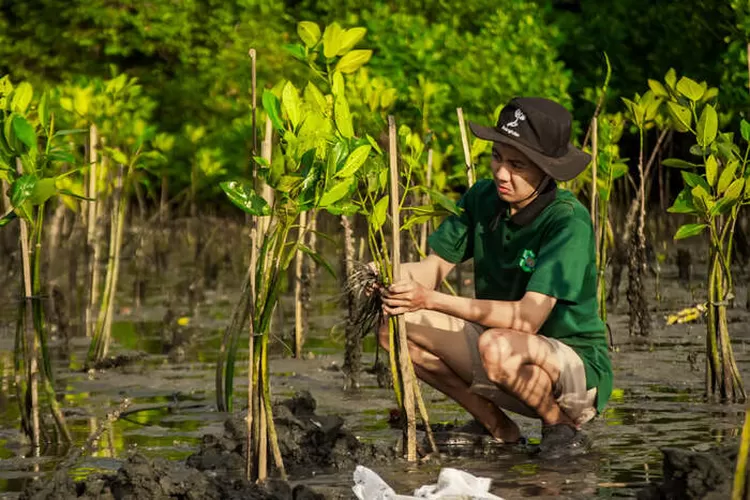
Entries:
[[[594,452],[564,463],[544,463],[519,450],[492,456],[449,457],[441,463],[408,467],[394,463],[376,471],[398,492],[408,493],[434,482],[441,466],[459,467],[493,479],[492,491],[504,498],[611,498],[634,496],[639,483],[661,477],[661,446],[702,449],[722,443],[739,433],[743,408],[707,404],[703,401],[703,355],[705,326],[666,327],[664,314],[693,303],[692,293],[679,286],[665,271],[662,302],[654,300],[654,335],[636,342],[627,335],[627,304],[624,299],[611,313],[610,324],[618,352],[612,354],[615,392],[600,418],[588,426],[595,442]],[[653,283],[649,284],[653,289]],[[226,286],[226,290],[231,287]],[[746,291],[738,290],[744,303]],[[314,294],[311,332],[306,359],[288,357],[283,339],[289,337],[293,317],[285,299],[276,319],[276,347],[271,364],[273,393],[287,397],[309,390],[318,403],[318,414],[338,414],[348,428],[364,441],[395,443],[399,431],[388,425],[394,407],[390,391],[377,387],[372,375],[362,375],[358,393],[342,392],[343,308],[332,286]],[[216,352],[233,298],[207,293],[187,325],[177,319],[162,322],[160,299],[149,301],[138,314],[123,304],[114,328],[116,353],[142,353],[137,361],[96,373],[82,373],[85,339],[74,338],[67,346],[53,342],[58,394],[76,443],[82,443],[99,427],[103,417],[122,401],[132,399],[128,414],[106,428],[93,454],[81,460],[73,474],[115,470],[129,453],[185,459],[198,449],[201,436],[220,433],[226,415],[214,409],[214,366]],[[153,303],[152,303],[153,302]],[[178,317],[180,315],[178,314]],[[750,315],[731,312],[730,331],[745,379],[750,372]],[[13,311],[0,310],[0,497],[14,498],[29,481],[55,469],[66,450],[45,449],[39,458],[25,458],[28,448],[18,432],[19,413],[12,380]],[[184,322],[184,321],[183,321]],[[365,364],[373,361],[369,339]],[[244,351],[246,353],[246,351]],[[245,372],[236,378],[236,401],[246,394]],[[465,421],[467,415],[439,393],[425,387],[424,394],[433,422]],[[518,418],[523,432],[539,439],[538,423]],[[310,471],[292,478],[310,486],[337,489],[347,498],[351,470]]]

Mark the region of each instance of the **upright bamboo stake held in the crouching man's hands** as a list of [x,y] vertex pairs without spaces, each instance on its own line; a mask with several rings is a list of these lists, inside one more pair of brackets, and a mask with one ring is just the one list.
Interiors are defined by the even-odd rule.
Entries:
[[[399,216],[398,200],[398,154],[396,151],[396,120],[388,117],[388,135],[390,149],[390,180],[391,180],[391,220],[393,224],[393,281],[401,279],[401,219]],[[398,324],[399,369],[403,383],[403,405],[406,414],[406,459],[414,462],[417,459],[417,423],[414,418],[414,385],[412,379],[411,359],[409,358],[409,344],[406,336],[406,320],[403,315],[395,318]]]

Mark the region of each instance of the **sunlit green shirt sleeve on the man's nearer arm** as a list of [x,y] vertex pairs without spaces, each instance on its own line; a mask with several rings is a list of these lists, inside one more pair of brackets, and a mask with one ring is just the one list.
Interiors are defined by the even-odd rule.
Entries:
[[593,238],[588,218],[566,217],[550,224],[526,291],[578,302],[587,273],[595,262]]

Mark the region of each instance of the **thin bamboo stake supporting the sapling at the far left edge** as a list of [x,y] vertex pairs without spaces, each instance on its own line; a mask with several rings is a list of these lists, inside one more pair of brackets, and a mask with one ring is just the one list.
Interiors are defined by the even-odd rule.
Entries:
[[[16,157],[16,171],[19,175],[23,174],[23,165],[20,158]],[[31,260],[29,249],[29,227],[25,219],[20,219],[21,223],[21,261],[23,266],[23,290],[24,290],[24,307],[26,318],[24,325],[24,342],[30,342],[31,352],[28,361],[28,380],[29,395],[31,399],[31,444],[34,448],[34,456],[39,456],[39,366],[37,354],[39,346],[37,345],[36,332],[34,331],[34,319],[32,317],[32,296],[31,296]],[[30,335],[29,335],[30,334]],[[31,339],[29,339],[31,337]]]

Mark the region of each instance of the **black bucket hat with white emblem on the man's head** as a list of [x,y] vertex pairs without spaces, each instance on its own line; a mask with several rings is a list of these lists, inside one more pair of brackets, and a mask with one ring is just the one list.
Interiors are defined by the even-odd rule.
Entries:
[[556,181],[568,181],[586,168],[591,155],[570,143],[573,117],[560,104],[541,97],[516,97],[500,112],[497,125],[469,122],[475,136],[513,146]]

